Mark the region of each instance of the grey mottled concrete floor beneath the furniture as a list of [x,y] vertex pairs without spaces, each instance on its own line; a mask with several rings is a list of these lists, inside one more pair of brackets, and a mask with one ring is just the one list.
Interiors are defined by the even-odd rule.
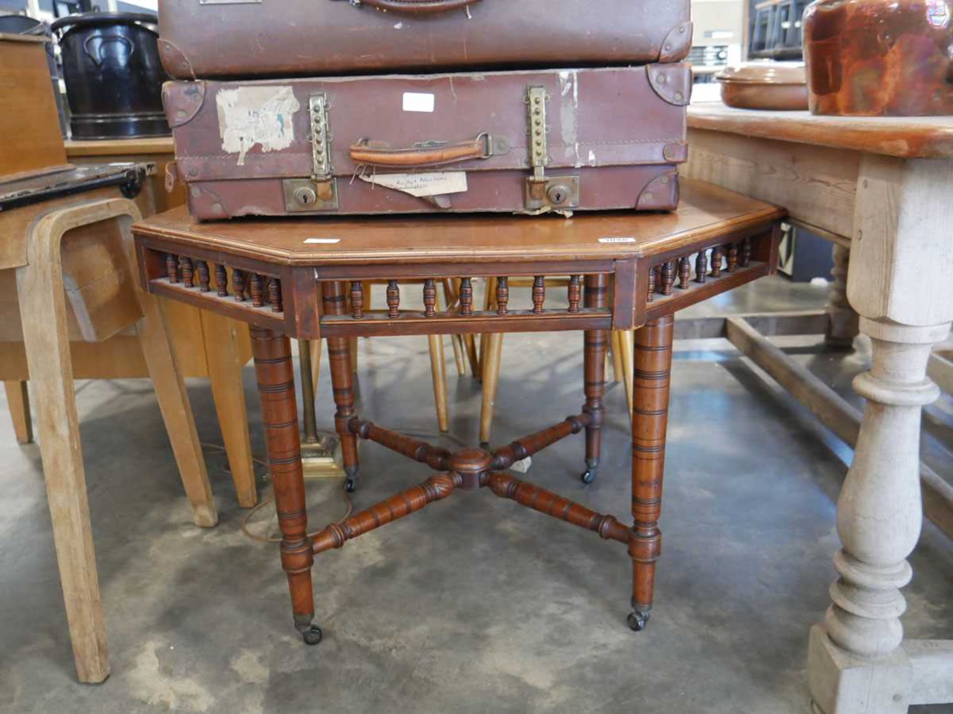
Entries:
[[[820,307],[822,288],[780,278],[705,311]],[[800,339],[800,338],[799,338]],[[798,340],[794,341],[798,343]],[[817,342],[808,339],[806,344]],[[866,349],[794,351],[847,393]],[[604,542],[489,493],[452,499],[318,557],[325,640],[296,637],[276,548],[239,530],[222,458],[210,451],[221,523],[193,527],[152,389],[77,384],[112,677],[74,682],[40,455],[17,446],[0,408],[0,711],[29,712],[806,712],[809,625],[827,606],[838,547],[834,502],[850,451],[720,342],[679,344],[656,608],[625,625],[630,563]],[[362,341],[362,412],[418,435],[436,430],[426,341]],[[451,434],[476,442],[479,392],[457,378]],[[507,337],[494,442],[581,404],[581,337]],[[263,452],[253,372],[253,447]],[[190,384],[199,433],[218,443],[209,388]],[[927,453],[949,478],[949,397],[926,420]],[[603,464],[578,481],[581,437],[537,456],[527,478],[628,518],[623,390],[608,393]],[[318,422],[332,428],[327,366]],[[362,448],[369,506],[425,467]],[[262,493],[268,485],[262,481]],[[309,484],[314,526],[344,507],[337,483]],[[262,511],[253,527],[267,530]],[[953,637],[953,547],[932,525],[912,558],[904,617],[913,637]],[[921,707],[953,712],[953,706]]]

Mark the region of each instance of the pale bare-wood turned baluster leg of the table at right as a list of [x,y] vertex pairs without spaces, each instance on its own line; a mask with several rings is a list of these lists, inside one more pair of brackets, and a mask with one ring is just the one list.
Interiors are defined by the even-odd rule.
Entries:
[[838,580],[811,629],[807,681],[824,714],[901,714],[953,701],[953,643],[903,639],[901,588],[923,522],[921,411],[940,396],[931,346],[953,320],[953,161],[864,155],[847,295],[873,365],[854,380],[867,400],[838,499]]

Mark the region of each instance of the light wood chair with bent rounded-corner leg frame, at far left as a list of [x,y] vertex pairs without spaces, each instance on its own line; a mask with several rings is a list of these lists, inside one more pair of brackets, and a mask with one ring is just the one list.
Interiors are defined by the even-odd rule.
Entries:
[[[133,277],[138,271],[130,228],[141,219],[139,208],[123,198],[71,202],[31,212],[29,228],[20,231],[14,230],[23,220],[19,211],[0,216],[0,232],[8,243],[23,248],[21,259],[8,260],[10,269],[0,270],[0,295],[8,303],[8,309],[0,311],[0,331],[3,340],[22,340],[25,347],[76,670],[81,682],[94,683],[105,680],[110,668],[72,388],[71,345],[107,340],[132,326],[155,385],[193,521],[214,526],[218,515],[169,340],[167,316],[156,298],[136,288]],[[25,407],[22,383],[10,391],[14,406]],[[18,432],[29,436],[29,422],[20,423]]]

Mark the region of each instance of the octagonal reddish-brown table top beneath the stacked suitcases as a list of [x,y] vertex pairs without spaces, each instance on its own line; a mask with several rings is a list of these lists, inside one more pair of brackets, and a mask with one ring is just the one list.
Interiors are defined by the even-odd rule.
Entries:
[[683,180],[672,213],[611,211],[560,216],[438,215],[238,219],[196,223],[185,207],[133,230],[274,264],[369,265],[497,260],[606,260],[652,256],[726,230],[777,220],[782,208]]

